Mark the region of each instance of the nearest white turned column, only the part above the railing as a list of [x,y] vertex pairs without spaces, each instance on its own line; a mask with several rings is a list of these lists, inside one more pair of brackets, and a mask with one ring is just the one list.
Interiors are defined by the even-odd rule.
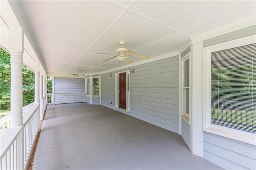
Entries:
[[22,117],[22,56],[24,49],[22,30],[9,29],[9,48],[11,63],[11,126],[23,125]]

